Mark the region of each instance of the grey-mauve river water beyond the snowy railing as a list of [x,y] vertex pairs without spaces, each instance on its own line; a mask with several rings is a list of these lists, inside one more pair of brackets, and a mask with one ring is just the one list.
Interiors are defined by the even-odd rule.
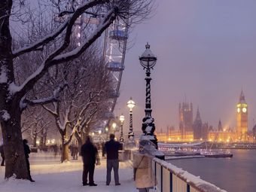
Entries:
[[256,150],[233,150],[232,158],[169,160],[228,192],[256,191]]

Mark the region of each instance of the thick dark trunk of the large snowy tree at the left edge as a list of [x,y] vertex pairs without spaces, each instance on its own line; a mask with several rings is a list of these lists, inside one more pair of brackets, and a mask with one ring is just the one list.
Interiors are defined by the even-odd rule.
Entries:
[[16,175],[16,178],[29,179],[20,127],[22,95],[10,93],[9,90],[10,84],[15,81],[11,51],[12,37],[9,28],[12,2],[0,1],[0,74],[6,76],[0,82],[0,113],[2,114],[0,123],[6,160],[5,178]]

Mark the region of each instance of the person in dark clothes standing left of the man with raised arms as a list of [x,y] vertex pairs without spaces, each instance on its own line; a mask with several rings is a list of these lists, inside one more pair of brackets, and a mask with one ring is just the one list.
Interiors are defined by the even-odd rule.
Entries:
[[[84,170],[83,170],[83,185],[97,186],[93,181],[95,163],[99,163],[98,149],[93,145],[90,136],[87,137],[87,141],[81,146],[81,156],[83,157]],[[89,172],[89,183],[87,183],[87,175]]]

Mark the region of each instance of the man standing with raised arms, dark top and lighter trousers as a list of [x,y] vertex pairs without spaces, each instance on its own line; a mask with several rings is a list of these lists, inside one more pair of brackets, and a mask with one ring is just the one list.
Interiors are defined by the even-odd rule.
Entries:
[[105,151],[107,153],[107,181],[106,184],[109,185],[111,181],[111,170],[114,169],[114,182],[115,185],[120,185],[118,176],[118,150],[121,145],[120,142],[114,141],[114,134],[111,133],[109,136],[110,140],[105,142]]

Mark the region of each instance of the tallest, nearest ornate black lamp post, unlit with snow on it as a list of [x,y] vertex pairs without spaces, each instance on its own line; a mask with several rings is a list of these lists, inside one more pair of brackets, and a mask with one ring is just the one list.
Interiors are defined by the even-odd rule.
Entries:
[[145,101],[145,117],[142,119],[142,139],[147,139],[157,146],[157,136],[154,135],[155,125],[154,118],[151,117],[151,69],[156,65],[157,57],[150,50],[150,45],[146,44],[146,50],[139,57],[139,61],[146,70],[146,101]]

